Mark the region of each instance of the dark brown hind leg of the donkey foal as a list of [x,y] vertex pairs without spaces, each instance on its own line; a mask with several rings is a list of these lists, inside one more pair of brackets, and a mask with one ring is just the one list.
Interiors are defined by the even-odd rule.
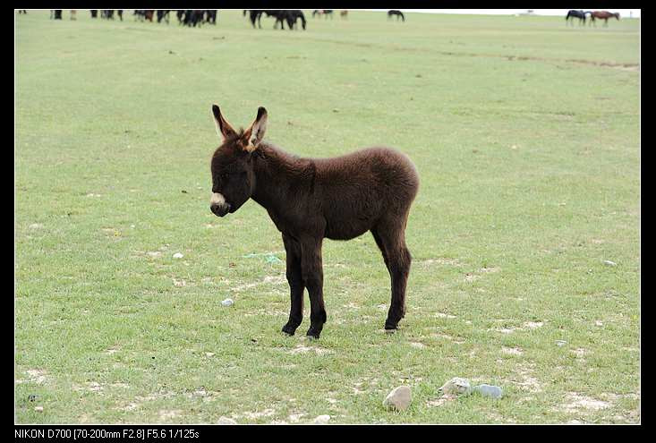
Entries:
[[410,274],[412,256],[405,245],[405,220],[379,224],[371,229],[371,234],[383,253],[392,283],[392,301],[390,302],[386,329],[396,329],[398,322],[405,317],[405,287]]

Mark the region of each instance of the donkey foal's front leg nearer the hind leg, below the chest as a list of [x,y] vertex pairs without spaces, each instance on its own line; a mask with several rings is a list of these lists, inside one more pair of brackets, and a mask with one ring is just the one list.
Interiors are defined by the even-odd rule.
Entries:
[[301,271],[303,283],[310,294],[310,329],[307,336],[319,338],[323,324],[326,323],[320,238],[301,243]]

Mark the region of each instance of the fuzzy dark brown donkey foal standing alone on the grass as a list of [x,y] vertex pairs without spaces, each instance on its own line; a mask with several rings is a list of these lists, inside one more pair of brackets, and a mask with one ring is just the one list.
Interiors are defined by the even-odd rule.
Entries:
[[283,234],[292,306],[283,332],[294,335],[303,315],[303,290],[310,294],[310,329],[319,338],[326,322],[321,243],[349,240],[371,231],[392,279],[386,329],[405,315],[405,285],[411,256],[405,225],[419,176],[405,155],[388,148],[362,149],[338,158],[298,158],[262,141],[267,110],[236,132],[212,106],[221,146],[211,161],[210,209],[218,217],[255,200]]

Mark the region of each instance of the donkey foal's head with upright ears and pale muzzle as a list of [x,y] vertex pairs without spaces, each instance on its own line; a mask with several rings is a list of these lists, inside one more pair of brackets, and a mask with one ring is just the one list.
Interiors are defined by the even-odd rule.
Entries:
[[212,157],[209,209],[218,217],[223,217],[239,209],[255,190],[253,151],[258,149],[267,130],[267,110],[260,106],[251,126],[239,132],[227,123],[217,105],[212,105],[212,115],[221,146]]

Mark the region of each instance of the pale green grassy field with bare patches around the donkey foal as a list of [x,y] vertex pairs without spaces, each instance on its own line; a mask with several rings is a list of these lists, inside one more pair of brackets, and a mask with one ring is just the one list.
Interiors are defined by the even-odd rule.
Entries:
[[[131,14],[16,16],[16,422],[640,422],[639,21]],[[209,211],[213,102],[266,106],[303,157],[413,159],[396,335],[370,234],[324,243],[320,340],[309,302],[282,335],[280,234],[252,201]],[[440,399],[453,377],[505,396]]]

